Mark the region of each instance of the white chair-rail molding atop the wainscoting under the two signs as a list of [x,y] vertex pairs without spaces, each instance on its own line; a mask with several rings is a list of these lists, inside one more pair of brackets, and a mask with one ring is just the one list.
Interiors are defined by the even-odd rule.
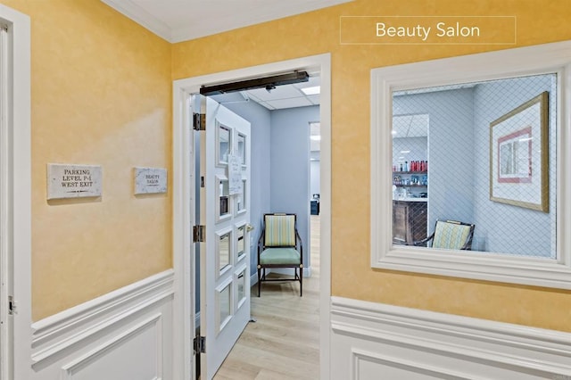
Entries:
[[32,367],[41,367],[76,344],[95,340],[127,318],[172,299],[173,280],[174,271],[169,269],[32,324]]

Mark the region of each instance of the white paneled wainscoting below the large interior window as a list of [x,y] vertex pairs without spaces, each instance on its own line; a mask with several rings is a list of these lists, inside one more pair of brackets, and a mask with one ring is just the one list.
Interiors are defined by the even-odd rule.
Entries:
[[338,380],[571,380],[571,334],[332,297]]

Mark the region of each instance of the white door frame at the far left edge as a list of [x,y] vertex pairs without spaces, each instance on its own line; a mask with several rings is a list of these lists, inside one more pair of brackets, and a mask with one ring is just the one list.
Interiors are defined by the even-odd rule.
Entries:
[[[8,28],[6,120],[2,123],[0,279],[2,366],[0,379],[28,378],[31,368],[31,136],[29,16],[0,4]],[[15,315],[7,311],[14,297]]]

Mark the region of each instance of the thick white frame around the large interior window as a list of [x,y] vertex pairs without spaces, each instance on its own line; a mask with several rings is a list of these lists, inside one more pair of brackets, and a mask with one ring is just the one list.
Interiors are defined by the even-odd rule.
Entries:
[[[558,258],[484,252],[451,254],[392,245],[392,92],[418,87],[559,73]],[[371,266],[433,275],[571,289],[571,41],[371,70]]]

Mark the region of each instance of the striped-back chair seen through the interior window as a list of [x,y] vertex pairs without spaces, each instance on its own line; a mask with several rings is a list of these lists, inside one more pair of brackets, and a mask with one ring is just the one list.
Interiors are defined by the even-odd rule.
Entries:
[[457,220],[436,220],[433,234],[426,239],[414,242],[414,244],[426,246],[426,243],[432,240],[430,245],[432,248],[470,251],[474,227],[473,224],[462,223]]

